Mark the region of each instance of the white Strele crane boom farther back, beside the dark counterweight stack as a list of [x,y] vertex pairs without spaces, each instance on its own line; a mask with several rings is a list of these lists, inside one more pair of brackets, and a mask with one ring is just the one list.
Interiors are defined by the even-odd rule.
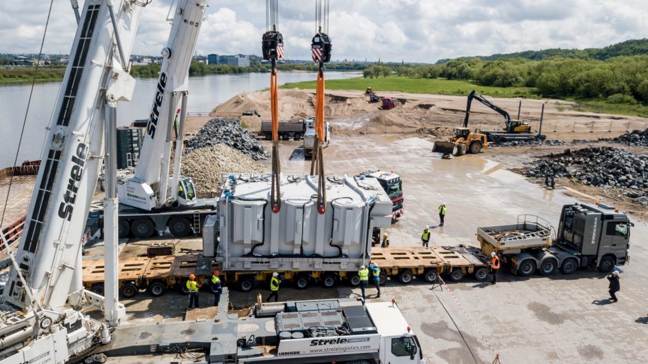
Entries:
[[[181,0],[177,5],[169,41],[162,50],[162,68],[139,163],[134,176],[117,185],[120,203],[153,210],[171,205],[177,199],[189,66],[206,6],[207,0]],[[174,174],[170,177],[174,117],[181,102],[183,107],[176,135]]]

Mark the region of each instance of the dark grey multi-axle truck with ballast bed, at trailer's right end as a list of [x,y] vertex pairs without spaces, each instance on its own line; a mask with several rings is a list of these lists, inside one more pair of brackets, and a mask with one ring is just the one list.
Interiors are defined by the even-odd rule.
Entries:
[[[573,274],[579,267],[598,268],[611,272],[616,265],[625,265],[630,246],[628,216],[609,205],[599,203],[564,205],[556,239],[551,240],[551,225],[529,215],[518,218],[514,225],[478,228],[477,239],[486,253],[500,252],[511,263],[511,270],[530,276],[536,270],[554,274]],[[522,232],[512,234],[512,232]],[[510,237],[507,237],[509,234]]]

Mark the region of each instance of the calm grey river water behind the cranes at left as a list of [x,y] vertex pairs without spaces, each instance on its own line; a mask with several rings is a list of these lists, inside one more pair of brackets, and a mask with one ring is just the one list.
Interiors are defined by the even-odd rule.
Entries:
[[[349,79],[360,75],[358,72],[326,72],[326,79]],[[316,79],[314,72],[279,74],[281,84],[314,79]],[[157,79],[154,78],[137,79],[133,100],[130,103],[120,103],[117,111],[119,125],[128,125],[135,119],[148,117],[156,83]],[[37,83],[34,86],[18,164],[41,158],[45,128],[50,123],[60,85],[60,82],[50,82]],[[267,73],[190,77],[188,112],[208,112],[236,94],[268,87],[270,87],[270,74]],[[0,143],[0,168],[8,167],[14,162],[30,88],[31,85],[28,84],[0,86],[0,132],[3,135]]]

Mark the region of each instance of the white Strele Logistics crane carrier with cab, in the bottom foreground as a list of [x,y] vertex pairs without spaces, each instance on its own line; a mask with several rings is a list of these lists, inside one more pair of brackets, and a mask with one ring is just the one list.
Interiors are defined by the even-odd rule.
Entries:
[[257,303],[240,318],[228,306],[224,288],[213,319],[121,325],[101,350],[124,356],[187,348],[203,350],[209,363],[228,364],[425,364],[421,344],[395,303]]

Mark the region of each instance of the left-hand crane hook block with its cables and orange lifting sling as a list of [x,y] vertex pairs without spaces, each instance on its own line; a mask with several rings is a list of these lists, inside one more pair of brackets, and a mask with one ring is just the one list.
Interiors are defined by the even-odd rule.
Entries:
[[277,0],[265,1],[265,33],[263,59],[271,61],[270,114],[272,120],[272,173],[270,176],[270,208],[274,214],[281,210],[281,163],[279,160],[279,82],[276,61],[283,59],[283,36],[277,30],[279,23]]

